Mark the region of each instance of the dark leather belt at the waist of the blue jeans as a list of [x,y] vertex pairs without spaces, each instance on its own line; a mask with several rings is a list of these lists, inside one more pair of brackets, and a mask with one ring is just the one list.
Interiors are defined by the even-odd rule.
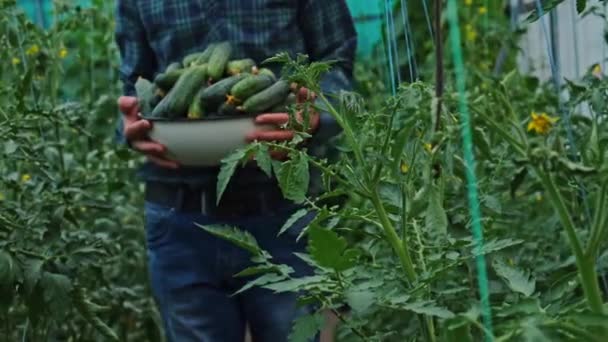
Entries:
[[[213,187],[214,188],[214,187]],[[228,189],[216,205],[215,189],[208,186],[146,182],[146,201],[174,208],[180,212],[196,212],[217,218],[242,218],[276,212],[289,205],[278,186],[243,186]]]

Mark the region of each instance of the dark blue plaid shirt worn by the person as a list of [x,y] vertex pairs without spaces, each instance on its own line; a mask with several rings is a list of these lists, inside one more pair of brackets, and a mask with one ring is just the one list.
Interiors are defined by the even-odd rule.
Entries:
[[[153,79],[170,63],[224,40],[235,46],[234,58],[258,63],[282,51],[305,53],[311,60],[340,60],[322,80],[322,89],[332,93],[351,88],[357,37],[345,0],[117,0],[124,95],[135,94],[139,76]],[[118,121],[117,136],[124,142]],[[322,113],[311,148],[326,144],[338,133],[336,126]],[[145,180],[210,185],[217,173],[217,168],[164,170],[151,163],[139,172]],[[235,178],[268,181],[259,170],[243,170]]]

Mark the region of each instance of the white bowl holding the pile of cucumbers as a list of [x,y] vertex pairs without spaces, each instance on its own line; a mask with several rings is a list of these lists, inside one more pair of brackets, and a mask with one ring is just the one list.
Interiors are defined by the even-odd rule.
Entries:
[[150,119],[150,138],[167,147],[167,157],[184,166],[218,166],[221,160],[247,144],[255,116],[207,117],[203,119]]

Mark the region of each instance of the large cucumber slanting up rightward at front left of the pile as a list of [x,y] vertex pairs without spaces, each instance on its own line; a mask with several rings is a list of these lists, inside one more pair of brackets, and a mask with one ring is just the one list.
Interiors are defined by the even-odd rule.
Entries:
[[194,95],[199,91],[206,78],[207,67],[204,65],[186,69],[171,88],[171,91],[154,108],[152,116],[169,119],[185,117]]

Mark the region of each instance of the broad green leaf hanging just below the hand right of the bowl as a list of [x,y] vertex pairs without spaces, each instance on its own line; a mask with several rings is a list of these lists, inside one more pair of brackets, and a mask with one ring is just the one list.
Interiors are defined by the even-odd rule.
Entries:
[[304,154],[298,153],[289,161],[274,165],[275,167],[280,165],[278,170],[275,169],[275,174],[283,196],[295,203],[304,202],[310,183],[308,159]]

